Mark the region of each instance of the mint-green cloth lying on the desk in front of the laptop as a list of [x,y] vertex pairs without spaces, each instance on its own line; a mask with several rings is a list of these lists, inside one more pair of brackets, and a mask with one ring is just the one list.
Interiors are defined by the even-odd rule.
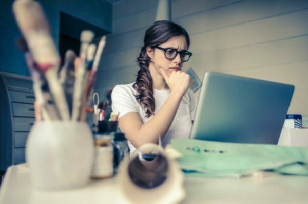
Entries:
[[182,154],[184,173],[201,177],[240,177],[254,171],[308,176],[308,148],[239,144],[203,140],[171,140]]

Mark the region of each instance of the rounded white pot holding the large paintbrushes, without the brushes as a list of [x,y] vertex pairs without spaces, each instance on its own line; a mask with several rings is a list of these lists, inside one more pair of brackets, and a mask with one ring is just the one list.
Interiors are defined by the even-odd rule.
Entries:
[[84,122],[37,122],[27,140],[32,185],[60,190],[84,186],[90,178],[94,144]]

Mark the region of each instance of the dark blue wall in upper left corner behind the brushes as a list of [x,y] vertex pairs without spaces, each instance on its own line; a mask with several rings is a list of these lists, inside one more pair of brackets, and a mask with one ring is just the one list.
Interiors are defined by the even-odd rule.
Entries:
[[[42,6],[56,45],[59,45],[60,38],[60,12],[97,26],[108,33],[112,30],[112,4],[105,0],[36,1]],[[24,57],[15,43],[16,38],[21,37],[21,32],[13,16],[13,2],[13,0],[0,1],[0,71],[29,76]],[[67,30],[71,32],[78,26],[66,24]],[[75,35],[79,36],[80,33]]]

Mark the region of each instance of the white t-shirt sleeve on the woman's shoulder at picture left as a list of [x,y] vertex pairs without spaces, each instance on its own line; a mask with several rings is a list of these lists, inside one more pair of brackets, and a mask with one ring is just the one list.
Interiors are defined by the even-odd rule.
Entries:
[[113,88],[111,94],[112,111],[118,112],[121,118],[129,112],[138,112],[136,99],[134,98],[131,89],[123,85],[117,85]]

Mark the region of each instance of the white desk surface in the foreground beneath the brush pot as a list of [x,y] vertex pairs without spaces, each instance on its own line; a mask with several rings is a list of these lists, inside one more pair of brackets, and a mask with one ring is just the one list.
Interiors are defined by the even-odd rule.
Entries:
[[[185,178],[186,198],[181,203],[308,203],[308,177],[264,173],[260,179]],[[0,189],[0,204],[10,203],[127,203],[117,177],[91,180],[80,189],[40,191],[30,183],[25,164],[8,169]]]

